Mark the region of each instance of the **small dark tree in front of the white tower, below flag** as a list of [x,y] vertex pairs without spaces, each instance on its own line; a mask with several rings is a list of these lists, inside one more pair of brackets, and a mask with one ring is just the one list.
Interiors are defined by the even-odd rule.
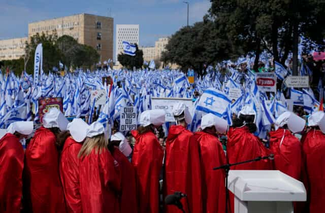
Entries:
[[139,50],[138,45],[136,45],[136,55],[126,55],[124,53],[117,55],[117,60],[126,68],[133,69],[133,67],[141,68],[143,64],[143,51]]

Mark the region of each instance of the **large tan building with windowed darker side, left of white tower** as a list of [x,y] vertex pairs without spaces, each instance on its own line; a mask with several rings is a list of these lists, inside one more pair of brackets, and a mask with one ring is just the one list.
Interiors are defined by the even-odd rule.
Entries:
[[103,62],[113,59],[113,30],[113,18],[83,13],[29,23],[28,37],[42,32],[70,35],[80,44],[95,48]]

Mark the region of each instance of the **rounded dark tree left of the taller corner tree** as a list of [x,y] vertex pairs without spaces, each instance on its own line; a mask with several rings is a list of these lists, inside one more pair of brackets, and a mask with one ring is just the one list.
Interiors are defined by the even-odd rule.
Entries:
[[205,19],[173,34],[161,61],[177,63],[183,70],[192,66],[202,75],[204,64],[214,64],[231,56],[231,44],[218,38],[214,23]]

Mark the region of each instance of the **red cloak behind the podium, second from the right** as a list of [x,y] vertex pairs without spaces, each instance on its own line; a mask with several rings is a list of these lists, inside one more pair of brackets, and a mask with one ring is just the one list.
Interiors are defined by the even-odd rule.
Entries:
[[300,180],[302,150],[299,139],[289,130],[279,128],[270,132],[270,149],[274,154],[274,168]]

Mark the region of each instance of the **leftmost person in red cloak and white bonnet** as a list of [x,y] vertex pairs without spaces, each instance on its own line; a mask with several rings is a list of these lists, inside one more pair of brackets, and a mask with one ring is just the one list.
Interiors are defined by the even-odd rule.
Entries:
[[26,138],[33,128],[31,121],[14,122],[0,139],[0,212],[20,212],[24,150],[19,140]]

